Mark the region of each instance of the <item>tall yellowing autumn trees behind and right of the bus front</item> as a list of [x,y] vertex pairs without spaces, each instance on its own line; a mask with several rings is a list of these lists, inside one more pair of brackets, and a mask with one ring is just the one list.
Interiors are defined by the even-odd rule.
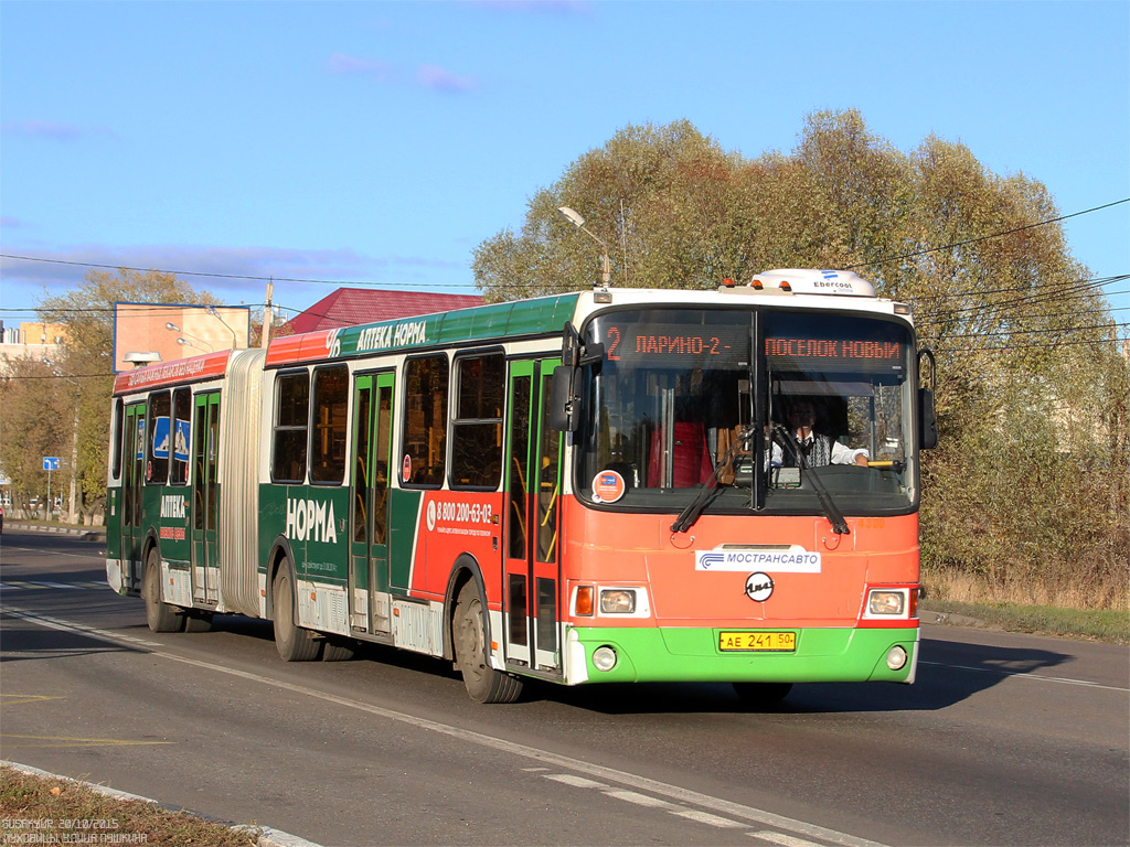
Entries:
[[1127,603],[1124,325],[1038,181],[993,174],[933,136],[901,151],[855,111],[814,113],[791,154],[754,159],[686,121],[627,126],[538,190],[520,233],[479,245],[485,297],[599,279],[596,245],[560,206],[608,241],[612,285],[703,289],[841,268],[912,304],[938,359],[942,431],[923,460],[927,570],[1023,600],[1061,600],[1094,578],[1071,602]]

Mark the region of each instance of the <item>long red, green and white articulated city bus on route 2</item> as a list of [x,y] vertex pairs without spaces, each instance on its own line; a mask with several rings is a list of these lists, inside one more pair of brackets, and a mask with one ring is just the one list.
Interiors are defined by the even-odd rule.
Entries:
[[155,631],[251,615],[289,662],[392,645],[480,702],[913,682],[928,359],[905,304],[783,270],[150,365],[114,385],[107,579]]

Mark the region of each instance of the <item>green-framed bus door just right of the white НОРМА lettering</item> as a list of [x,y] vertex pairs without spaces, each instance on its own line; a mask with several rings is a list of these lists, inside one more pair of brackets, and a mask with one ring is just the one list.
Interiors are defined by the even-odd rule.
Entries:
[[354,381],[350,490],[349,622],[358,632],[389,632],[389,469],[392,372]]

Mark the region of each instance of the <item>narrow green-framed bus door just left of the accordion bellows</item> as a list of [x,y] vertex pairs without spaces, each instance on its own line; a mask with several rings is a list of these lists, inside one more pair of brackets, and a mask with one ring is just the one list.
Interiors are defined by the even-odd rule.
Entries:
[[217,449],[219,447],[219,392],[197,394],[192,416],[192,599],[206,603],[219,600],[216,584],[219,562],[216,527],[219,523]]

